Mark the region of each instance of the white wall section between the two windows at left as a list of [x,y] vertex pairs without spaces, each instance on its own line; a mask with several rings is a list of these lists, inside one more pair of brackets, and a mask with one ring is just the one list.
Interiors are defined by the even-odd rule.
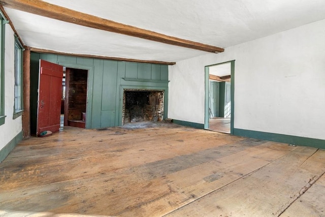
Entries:
[[5,124],[0,126],[0,149],[4,148],[22,129],[21,116],[13,119],[15,102],[15,38],[6,24],[5,38]]

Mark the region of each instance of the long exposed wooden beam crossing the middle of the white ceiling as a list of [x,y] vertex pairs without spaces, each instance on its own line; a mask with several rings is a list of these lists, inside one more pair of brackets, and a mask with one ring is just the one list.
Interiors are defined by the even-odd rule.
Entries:
[[167,36],[143,28],[125,25],[112,20],[96,17],[82,12],[63,8],[40,0],[0,0],[0,4],[20,11],[45,16],[64,22],[70,22],[91,28],[106,30],[108,32],[138,37],[155,42],[161,42],[180,47],[202,50],[212,53],[223,52],[224,49],[212,45],[193,42],[185,39]]

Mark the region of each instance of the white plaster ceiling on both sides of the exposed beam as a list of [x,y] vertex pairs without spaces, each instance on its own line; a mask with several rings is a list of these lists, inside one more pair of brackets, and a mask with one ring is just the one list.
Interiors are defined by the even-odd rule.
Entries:
[[[46,0],[45,2],[226,48],[325,19],[324,0]],[[207,52],[67,23],[5,7],[26,46],[58,52],[179,61]],[[218,55],[218,54],[215,54]]]

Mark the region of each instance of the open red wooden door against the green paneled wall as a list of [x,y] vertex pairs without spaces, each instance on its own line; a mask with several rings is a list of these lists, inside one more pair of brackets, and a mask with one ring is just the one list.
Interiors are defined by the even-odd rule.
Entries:
[[63,67],[40,59],[37,132],[60,130]]

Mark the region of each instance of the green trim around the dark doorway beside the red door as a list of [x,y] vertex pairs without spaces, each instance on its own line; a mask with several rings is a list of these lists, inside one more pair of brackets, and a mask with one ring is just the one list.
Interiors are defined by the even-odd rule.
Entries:
[[84,69],[88,70],[87,78],[87,106],[86,106],[86,129],[91,129],[91,105],[92,105],[92,87],[93,87],[93,76],[94,76],[94,66],[86,66],[74,63],[66,63],[63,61],[57,61],[58,65],[74,68],[74,69]]

